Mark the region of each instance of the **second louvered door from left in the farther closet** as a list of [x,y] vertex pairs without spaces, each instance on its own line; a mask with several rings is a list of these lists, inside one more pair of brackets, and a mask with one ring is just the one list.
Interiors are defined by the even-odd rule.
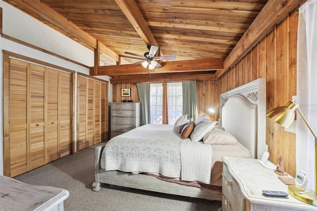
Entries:
[[86,147],[94,145],[94,88],[95,81],[88,80],[88,93],[87,93],[87,145]]

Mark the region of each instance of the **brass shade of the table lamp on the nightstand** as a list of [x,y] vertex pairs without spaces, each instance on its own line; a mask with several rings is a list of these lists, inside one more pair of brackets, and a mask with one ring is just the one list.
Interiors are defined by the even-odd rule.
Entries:
[[289,127],[294,121],[294,111],[297,107],[297,104],[290,101],[285,106],[279,106],[268,111],[266,116],[283,127]]

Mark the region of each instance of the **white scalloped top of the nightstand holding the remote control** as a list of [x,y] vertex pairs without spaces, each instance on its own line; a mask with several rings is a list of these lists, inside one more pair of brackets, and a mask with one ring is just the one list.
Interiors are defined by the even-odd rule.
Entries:
[[223,157],[230,175],[239,184],[244,197],[255,204],[280,206],[284,208],[298,208],[302,210],[317,210],[317,206],[303,203],[292,196],[270,197],[263,194],[263,190],[288,192],[285,185],[274,170],[262,166],[258,159]]

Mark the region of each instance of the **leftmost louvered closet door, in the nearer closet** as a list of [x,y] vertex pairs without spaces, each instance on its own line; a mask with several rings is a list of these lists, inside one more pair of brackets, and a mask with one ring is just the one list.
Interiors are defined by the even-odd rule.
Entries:
[[11,177],[28,170],[27,66],[26,62],[10,59],[10,172],[4,173]]

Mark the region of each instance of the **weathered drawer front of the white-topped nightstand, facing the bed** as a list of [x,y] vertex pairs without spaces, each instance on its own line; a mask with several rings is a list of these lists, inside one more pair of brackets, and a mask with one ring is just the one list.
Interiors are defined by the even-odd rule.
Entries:
[[242,211],[244,197],[238,183],[231,177],[228,168],[223,164],[222,169],[222,210]]

